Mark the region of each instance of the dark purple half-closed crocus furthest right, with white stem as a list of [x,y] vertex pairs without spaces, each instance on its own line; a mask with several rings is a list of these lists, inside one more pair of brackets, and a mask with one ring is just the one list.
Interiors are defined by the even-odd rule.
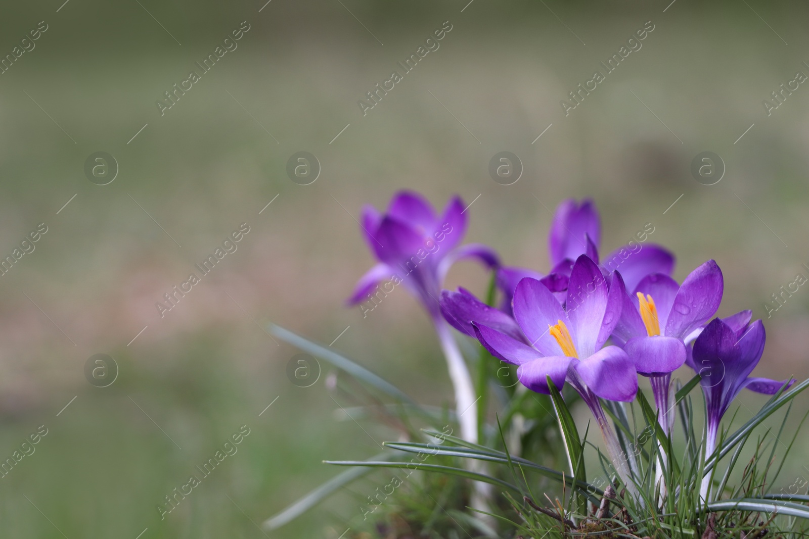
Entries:
[[[700,385],[705,393],[707,408],[707,439],[705,458],[716,449],[716,439],[722,416],[739,391],[747,388],[762,394],[776,394],[794,380],[777,381],[750,377],[764,352],[765,330],[760,320],[750,323],[749,310],[728,318],[716,318],[697,337],[688,364],[701,375]],[[702,479],[700,495],[708,499],[710,474]]]

